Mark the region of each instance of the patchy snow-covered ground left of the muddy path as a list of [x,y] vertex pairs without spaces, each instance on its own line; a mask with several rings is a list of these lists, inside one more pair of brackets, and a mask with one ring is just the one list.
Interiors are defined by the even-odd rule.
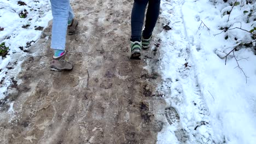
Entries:
[[22,2],[0,2],[0,44],[9,47],[6,57],[0,55],[0,99],[5,97],[7,88],[13,82],[11,78],[18,73],[23,59],[30,55],[30,46],[52,19],[48,0]]

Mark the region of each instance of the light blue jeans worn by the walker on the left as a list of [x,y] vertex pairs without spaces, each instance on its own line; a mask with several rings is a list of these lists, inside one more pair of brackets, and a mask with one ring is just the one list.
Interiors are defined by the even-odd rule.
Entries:
[[68,21],[72,21],[74,13],[69,0],[50,0],[53,14],[51,31],[51,49],[65,50]]

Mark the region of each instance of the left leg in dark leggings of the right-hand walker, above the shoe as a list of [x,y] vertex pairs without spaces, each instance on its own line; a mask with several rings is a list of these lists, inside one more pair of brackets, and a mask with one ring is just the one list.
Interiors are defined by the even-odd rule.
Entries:
[[141,31],[149,0],[135,0],[131,14],[131,41],[141,41]]

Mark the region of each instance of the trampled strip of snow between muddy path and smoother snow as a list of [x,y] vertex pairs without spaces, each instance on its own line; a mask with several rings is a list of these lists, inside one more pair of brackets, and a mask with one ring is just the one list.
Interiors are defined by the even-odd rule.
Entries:
[[[190,43],[183,19],[184,1],[162,1],[160,23],[164,29],[159,37],[162,39],[162,75],[161,86],[169,105],[165,109],[166,124],[176,143],[212,143],[212,130],[205,99],[201,94],[193,61],[190,59]],[[167,133],[162,131],[158,143]]]

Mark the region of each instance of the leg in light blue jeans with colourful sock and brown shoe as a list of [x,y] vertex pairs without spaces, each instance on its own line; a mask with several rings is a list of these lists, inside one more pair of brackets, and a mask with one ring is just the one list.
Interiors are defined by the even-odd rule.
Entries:
[[[73,64],[68,62],[65,51],[68,20],[73,17],[69,0],[50,0],[53,13],[53,28],[51,31],[51,49],[54,49],[51,70],[72,70]],[[71,13],[71,14],[69,14]]]

